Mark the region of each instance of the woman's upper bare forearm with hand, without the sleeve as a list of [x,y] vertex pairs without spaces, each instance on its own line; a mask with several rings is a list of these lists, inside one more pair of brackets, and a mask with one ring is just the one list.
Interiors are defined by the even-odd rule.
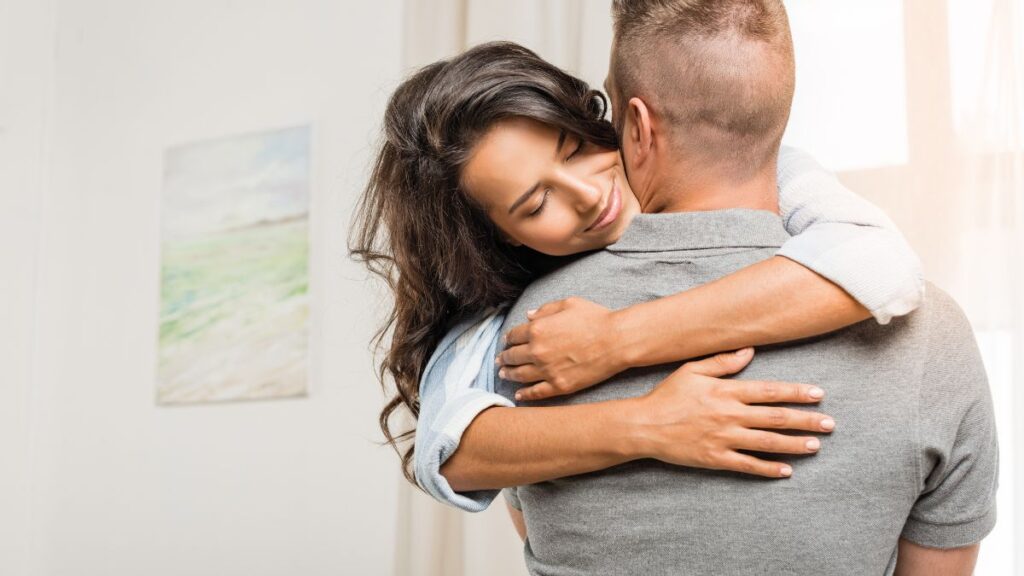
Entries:
[[528,316],[499,357],[503,378],[535,382],[517,401],[571,394],[631,367],[806,338],[870,318],[842,288],[781,256],[621,311],[567,298]]

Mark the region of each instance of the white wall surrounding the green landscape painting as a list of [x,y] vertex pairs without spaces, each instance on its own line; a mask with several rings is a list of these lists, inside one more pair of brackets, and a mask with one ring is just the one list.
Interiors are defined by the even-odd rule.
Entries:
[[[52,176],[27,224],[37,280],[18,285],[38,303],[19,320],[37,348],[31,552],[22,572],[0,549],[0,573],[390,574],[397,466],[374,443],[374,295],[345,230],[399,72],[400,3],[57,0],[55,12]],[[44,60],[50,38],[35,46]],[[309,398],[155,406],[163,151],[304,122]]]

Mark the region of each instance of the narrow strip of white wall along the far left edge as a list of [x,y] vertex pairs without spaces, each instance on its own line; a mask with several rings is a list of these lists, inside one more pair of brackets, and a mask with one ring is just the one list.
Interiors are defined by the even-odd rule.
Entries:
[[53,6],[0,0],[0,574],[28,560],[37,241],[53,82]]

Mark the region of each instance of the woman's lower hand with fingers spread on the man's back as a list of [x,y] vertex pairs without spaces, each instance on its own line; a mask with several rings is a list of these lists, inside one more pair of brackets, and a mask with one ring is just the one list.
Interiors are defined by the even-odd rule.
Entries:
[[750,364],[753,348],[684,364],[647,395],[635,399],[632,416],[640,422],[638,451],[644,457],[698,468],[786,478],[793,467],[738,450],[811,454],[820,441],[769,429],[830,433],[836,422],[815,412],[756,406],[814,404],[824,390],[808,384],[731,380]]

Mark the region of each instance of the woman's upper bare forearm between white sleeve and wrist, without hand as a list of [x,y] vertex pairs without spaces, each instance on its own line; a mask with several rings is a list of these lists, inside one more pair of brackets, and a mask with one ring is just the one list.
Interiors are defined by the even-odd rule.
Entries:
[[628,366],[806,338],[870,318],[842,288],[781,256],[616,315]]

